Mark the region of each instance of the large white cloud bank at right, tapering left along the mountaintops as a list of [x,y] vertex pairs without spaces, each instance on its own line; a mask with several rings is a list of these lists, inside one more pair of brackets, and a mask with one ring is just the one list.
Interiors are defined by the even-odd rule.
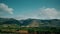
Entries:
[[27,19],[27,18],[33,18],[33,19],[60,19],[60,11],[58,11],[55,8],[45,8],[42,7],[36,11],[33,11],[28,14],[19,15],[15,17],[16,19]]

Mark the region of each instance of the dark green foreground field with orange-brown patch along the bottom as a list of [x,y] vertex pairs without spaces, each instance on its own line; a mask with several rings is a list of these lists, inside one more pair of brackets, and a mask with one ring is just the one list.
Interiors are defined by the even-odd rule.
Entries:
[[59,27],[0,27],[0,34],[60,34]]

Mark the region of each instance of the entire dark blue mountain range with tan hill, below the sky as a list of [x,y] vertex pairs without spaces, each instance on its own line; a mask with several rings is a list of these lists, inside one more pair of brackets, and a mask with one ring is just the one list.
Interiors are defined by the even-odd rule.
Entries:
[[41,19],[24,19],[24,20],[16,20],[14,18],[0,18],[0,25],[2,24],[17,24],[20,26],[28,26],[28,27],[60,27],[60,19],[49,19],[49,20],[41,20]]

